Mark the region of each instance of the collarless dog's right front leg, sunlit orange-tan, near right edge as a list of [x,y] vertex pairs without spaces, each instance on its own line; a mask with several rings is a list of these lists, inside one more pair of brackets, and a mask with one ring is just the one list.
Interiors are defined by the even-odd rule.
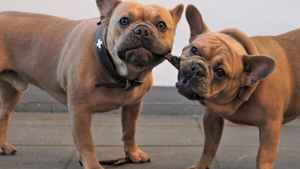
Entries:
[[269,122],[258,128],[259,148],[256,168],[273,168],[279,145],[281,122]]

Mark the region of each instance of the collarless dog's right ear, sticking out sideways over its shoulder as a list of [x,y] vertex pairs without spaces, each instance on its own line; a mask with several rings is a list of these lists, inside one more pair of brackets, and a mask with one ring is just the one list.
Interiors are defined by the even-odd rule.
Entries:
[[265,79],[276,67],[276,61],[267,55],[242,55],[244,72],[241,81],[245,86],[252,86]]

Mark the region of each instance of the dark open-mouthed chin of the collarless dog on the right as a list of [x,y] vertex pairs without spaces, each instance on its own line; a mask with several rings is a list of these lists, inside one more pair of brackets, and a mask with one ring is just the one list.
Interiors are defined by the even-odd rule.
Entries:
[[194,92],[189,84],[189,80],[185,79],[180,72],[178,72],[178,82],[176,82],[176,87],[178,89],[179,94],[183,95],[187,99],[190,100],[202,100],[203,97],[199,96],[196,92]]

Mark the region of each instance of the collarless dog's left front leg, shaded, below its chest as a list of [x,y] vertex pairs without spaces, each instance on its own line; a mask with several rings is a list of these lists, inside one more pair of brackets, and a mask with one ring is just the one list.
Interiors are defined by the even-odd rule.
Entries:
[[203,114],[204,147],[201,157],[188,169],[209,168],[221,140],[224,119],[205,107]]

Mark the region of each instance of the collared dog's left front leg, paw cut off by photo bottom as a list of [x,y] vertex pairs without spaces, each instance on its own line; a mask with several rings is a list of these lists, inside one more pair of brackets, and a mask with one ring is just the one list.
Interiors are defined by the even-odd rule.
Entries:
[[94,152],[90,131],[90,115],[88,108],[82,105],[70,105],[69,116],[74,143],[79,153],[79,160],[84,168],[103,168]]

